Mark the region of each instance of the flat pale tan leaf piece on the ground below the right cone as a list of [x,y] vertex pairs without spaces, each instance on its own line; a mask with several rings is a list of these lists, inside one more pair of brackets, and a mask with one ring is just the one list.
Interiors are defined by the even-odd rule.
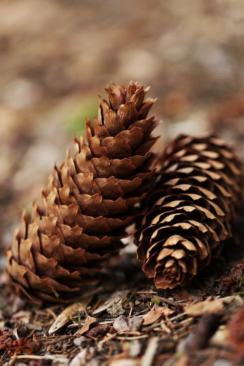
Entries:
[[224,307],[223,299],[217,300],[205,300],[193,305],[187,305],[184,307],[184,311],[190,316],[202,316],[207,314],[216,314]]

